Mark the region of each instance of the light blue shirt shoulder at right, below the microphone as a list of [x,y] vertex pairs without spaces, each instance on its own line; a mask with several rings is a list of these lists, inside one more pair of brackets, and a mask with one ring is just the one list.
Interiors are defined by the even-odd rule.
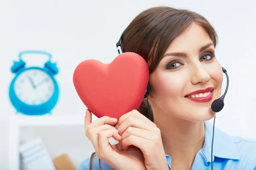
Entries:
[[[213,135],[213,126],[206,122],[206,148],[203,150],[207,159],[211,159],[211,144]],[[209,144],[208,144],[209,143]],[[234,166],[238,169],[256,168],[256,139],[245,138],[241,136],[232,136],[215,127],[214,130],[214,155],[227,166]],[[256,169],[255,169],[256,170]]]

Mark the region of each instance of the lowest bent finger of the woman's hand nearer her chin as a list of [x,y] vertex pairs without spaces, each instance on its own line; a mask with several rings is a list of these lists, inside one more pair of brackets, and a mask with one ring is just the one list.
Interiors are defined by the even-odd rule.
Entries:
[[147,142],[148,139],[143,139],[138,136],[131,135],[122,140],[122,147],[124,150],[126,150],[129,146],[133,145],[135,147],[138,147],[143,152],[147,149]]

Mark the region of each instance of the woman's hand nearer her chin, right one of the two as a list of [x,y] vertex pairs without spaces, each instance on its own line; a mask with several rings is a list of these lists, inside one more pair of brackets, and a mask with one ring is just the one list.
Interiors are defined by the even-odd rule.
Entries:
[[147,170],[169,170],[160,129],[148,118],[133,110],[119,118],[116,129],[122,137],[119,150],[133,145],[142,151]]

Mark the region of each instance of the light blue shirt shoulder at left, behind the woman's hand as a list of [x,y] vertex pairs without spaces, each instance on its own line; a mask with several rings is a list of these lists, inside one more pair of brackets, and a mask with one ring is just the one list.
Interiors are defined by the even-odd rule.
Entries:
[[[92,159],[92,161],[91,161]],[[99,158],[96,156],[96,154],[93,155],[93,157],[87,157],[83,161],[81,161],[81,164],[79,165],[78,170],[90,170],[90,162],[91,164],[91,170],[111,170],[111,167],[106,164],[104,161],[99,160]]]

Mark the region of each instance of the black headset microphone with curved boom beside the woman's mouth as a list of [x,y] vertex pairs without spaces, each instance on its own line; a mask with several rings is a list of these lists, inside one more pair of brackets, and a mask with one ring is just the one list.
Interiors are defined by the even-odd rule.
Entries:
[[227,75],[227,70],[225,68],[222,67],[222,71],[226,74],[226,77],[227,77],[227,86],[226,86],[226,90],[225,90],[225,93],[218,99],[215,99],[213,102],[212,102],[212,111],[214,112],[219,112],[223,109],[224,107],[224,97],[226,96],[227,94],[227,89],[228,89],[228,86],[229,86],[229,78],[228,78],[228,75]]

